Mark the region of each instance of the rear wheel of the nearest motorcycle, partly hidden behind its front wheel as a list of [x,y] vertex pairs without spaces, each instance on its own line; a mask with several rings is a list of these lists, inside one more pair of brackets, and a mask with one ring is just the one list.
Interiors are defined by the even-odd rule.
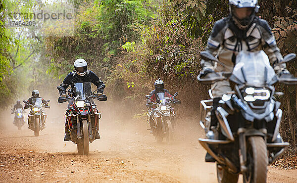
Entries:
[[217,164],[217,180],[218,183],[237,183],[238,175],[231,174],[226,167]]

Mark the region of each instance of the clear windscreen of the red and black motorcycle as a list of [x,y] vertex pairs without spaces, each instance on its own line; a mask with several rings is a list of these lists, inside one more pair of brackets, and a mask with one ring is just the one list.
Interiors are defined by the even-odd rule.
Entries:
[[74,83],[73,88],[76,100],[85,100],[91,95],[91,83]]

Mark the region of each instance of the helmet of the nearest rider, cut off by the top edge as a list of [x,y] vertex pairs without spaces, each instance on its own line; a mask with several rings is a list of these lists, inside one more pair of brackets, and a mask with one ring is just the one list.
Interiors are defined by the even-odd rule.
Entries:
[[[246,29],[251,24],[255,17],[255,13],[257,13],[260,8],[257,3],[258,0],[229,0],[230,14],[239,28]],[[239,8],[245,8],[245,11],[249,12],[242,11],[241,14],[239,14],[237,12],[237,9]]]

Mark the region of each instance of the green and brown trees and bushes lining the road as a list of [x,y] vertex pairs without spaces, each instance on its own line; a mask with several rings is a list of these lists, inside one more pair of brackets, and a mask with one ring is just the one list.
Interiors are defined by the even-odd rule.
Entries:
[[[196,80],[200,71],[199,52],[205,47],[213,23],[228,15],[227,0],[69,0],[68,3],[76,8],[74,33],[42,36],[36,30],[6,28],[7,5],[19,4],[1,1],[1,106],[10,104],[20,91],[30,91],[45,83],[56,92],[55,85],[72,71],[73,61],[84,58],[89,69],[106,83],[110,100],[122,104],[119,105],[122,115],[143,116],[144,96],[160,77],[165,88],[179,92],[180,117],[190,116],[198,121],[199,100],[208,97],[209,89]],[[26,11],[45,5],[39,1],[26,4]],[[297,1],[259,0],[259,5],[258,15],[273,28],[282,53],[297,53]],[[288,64],[288,68],[296,75],[296,61]],[[285,111],[281,134],[295,150],[297,88],[278,85],[277,91],[285,93],[279,98]],[[129,113],[123,110],[126,105],[131,106]]]

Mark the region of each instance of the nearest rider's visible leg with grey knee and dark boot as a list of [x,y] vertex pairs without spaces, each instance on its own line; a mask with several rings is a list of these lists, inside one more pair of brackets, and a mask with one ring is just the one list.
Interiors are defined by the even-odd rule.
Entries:
[[[212,131],[218,124],[218,119],[215,115],[216,108],[219,105],[219,101],[223,94],[232,91],[230,83],[227,80],[219,81],[211,85],[211,92],[213,95],[212,109],[210,111],[210,130],[207,132],[206,137],[209,139],[215,139],[214,132]],[[214,158],[210,154],[206,153],[206,162],[215,162]]]

